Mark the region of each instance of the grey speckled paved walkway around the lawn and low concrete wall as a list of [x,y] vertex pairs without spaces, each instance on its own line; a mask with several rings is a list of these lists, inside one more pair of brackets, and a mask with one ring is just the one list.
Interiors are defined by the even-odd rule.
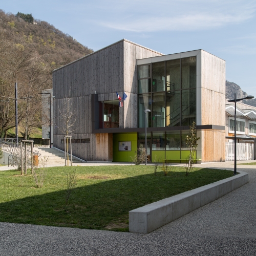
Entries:
[[256,165],[239,170],[248,184],[149,234],[0,223],[0,255],[256,255]]

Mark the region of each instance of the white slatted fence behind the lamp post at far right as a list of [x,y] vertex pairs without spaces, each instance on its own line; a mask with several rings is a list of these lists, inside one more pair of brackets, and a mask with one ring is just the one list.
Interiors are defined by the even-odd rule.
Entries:
[[[237,143],[237,160],[253,160],[254,145],[252,143]],[[226,161],[234,160],[234,143],[226,142]]]

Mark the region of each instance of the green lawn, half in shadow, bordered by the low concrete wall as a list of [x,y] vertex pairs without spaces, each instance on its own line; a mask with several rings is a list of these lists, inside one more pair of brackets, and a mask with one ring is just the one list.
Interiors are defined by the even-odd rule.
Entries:
[[[65,204],[66,174],[76,168],[77,186]],[[230,170],[195,168],[188,177],[172,166],[168,176],[153,166],[51,167],[44,186],[31,175],[0,172],[0,221],[129,231],[129,210],[227,177]]]

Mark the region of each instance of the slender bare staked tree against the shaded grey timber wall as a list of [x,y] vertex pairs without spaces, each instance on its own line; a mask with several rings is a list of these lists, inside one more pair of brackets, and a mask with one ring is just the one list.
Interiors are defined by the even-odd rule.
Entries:
[[[72,98],[67,97],[62,99],[60,105],[58,105],[58,114],[57,114],[57,122],[58,129],[62,134],[70,135],[76,131],[75,123],[76,123],[76,113],[77,110],[73,106]],[[66,138],[67,143],[67,155],[68,155],[68,148],[69,148],[69,141]],[[65,154],[66,154],[65,153]],[[68,155],[68,165],[69,165],[69,155]]]

